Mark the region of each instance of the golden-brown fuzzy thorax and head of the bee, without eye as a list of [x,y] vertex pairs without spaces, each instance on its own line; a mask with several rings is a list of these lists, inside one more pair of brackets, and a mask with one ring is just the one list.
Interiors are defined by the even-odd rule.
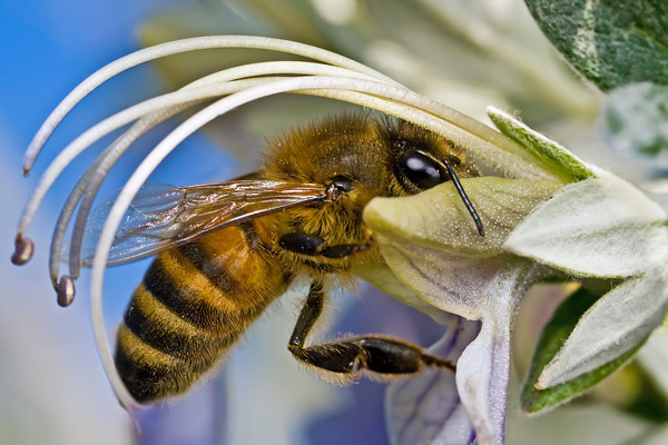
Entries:
[[[343,116],[288,132],[269,144],[261,176],[272,180],[322,184],[336,177],[353,179],[355,188],[333,202],[285,211],[277,218],[272,245],[274,251],[295,271],[312,276],[342,274],[356,264],[381,261],[373,235],[362,220],[366,204],[376,196],[405,196],[419,190],[397,177],[396,159],[403,150],[419,148],[435,158],[455,155],[462,178],[480,171],[453,144],[414,125],[379,121],[369,116]],[[369,245],[344,258],[325,258],[281,249],[278,238],[288,233],[314,235],[327,245]],[[296,267],[295,267],[296,266]],[[341,277],[340,277],[341,278]],[[343,277],[345,278],[345,277]]]

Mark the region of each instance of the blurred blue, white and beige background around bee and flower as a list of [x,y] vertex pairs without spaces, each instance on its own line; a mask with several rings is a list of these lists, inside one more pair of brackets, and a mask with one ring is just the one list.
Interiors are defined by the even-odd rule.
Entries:
[[[298,291],[271,307],[208,382],[144,413],[145,435],[137,439],[97,357],[88,275],[77,281],[75,304],[62,309],[56,305],[46,268],[55,218],[77,171],[91,155],[78,159],[68,170],[71,175],[47,196],[29,231],[37,245],[32,261],[20,268],[9,263],[19,212],[58,150],[121,108],[254,56],[203,52],[122,73],[75,109],[48,142],[33,174],[23,178],[22,152],[51,109],[85,77],[118,57],[147,44],[213,33],[282,37],[324,47],[483,121],[488,105],[518,112],[584,159],[631,179],[652,175],[650,164],[601,149],[596,129],[601,96],[563,65],[520,0],[3,1],[1,444],[386,443],[384,385],[361,382],[335,388],[305,373],[289,357],[285,345],[303,298]],[[294,97],[245,107],[189,138],[151,180],[180,186],[249,171],[266,137],[341,108]],[[150,148],[169,128],[159,127],[144,138],[112,170],[100,196],[118,189],[143,148]],[[107,275],[105,310],[110,338],[148,261],[112,268]],[[518,386],[541,323],[562,296],[560,289],[548,287],[525,298],[515,329]],[[333,299],[332,335],[382,332],[421,345],[440,337],[441,328],[429,317],[364,285],[355,295],[342,291]],[[660,354],[659,347],[649,355]],[[511,405],[509,443],[610,444],[654,434],[668,414],[661,402],[661,376],[652,374],[648,379],[649,367],[625,368],[608,386],[549,416],[520,419]],[[660,362],[655,368],[660,368]],[[517,390],[511,392],[513,398]],[[649,407],[649,414],[642,415],[638,404]],[[569,427],[563,428],[564,424]]]

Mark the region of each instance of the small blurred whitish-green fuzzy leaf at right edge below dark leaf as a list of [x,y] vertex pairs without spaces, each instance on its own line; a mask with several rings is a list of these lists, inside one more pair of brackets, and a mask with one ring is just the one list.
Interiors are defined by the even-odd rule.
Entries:
[[648,82],[615,89],[601,112],[609,146],[668,165],[668,87]]

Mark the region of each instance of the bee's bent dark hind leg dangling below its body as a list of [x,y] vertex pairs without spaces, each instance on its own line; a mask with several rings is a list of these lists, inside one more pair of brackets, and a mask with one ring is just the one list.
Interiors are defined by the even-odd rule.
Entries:
[[383,377],[415,374],[422,370],[423,366],[455,370],[455,366],[449,360],[425,354],[419,346],[382,335],[342,338],[304,346],[306,336],[322,314],[324,299],[321,284],[312,284],[287,345],[297,360],[344,378],[362,373]]

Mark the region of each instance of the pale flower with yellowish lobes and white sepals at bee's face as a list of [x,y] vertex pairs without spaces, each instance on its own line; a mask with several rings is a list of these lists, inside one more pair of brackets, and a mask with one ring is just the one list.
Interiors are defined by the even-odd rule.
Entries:
[[[484,239],[475,236],[450,184],[407,198],[376,198],[365,220],[406,286],[442,310],[482,322],[458,362],[456,389],[478,442],[501,444],[512,316],[525,290],[551,274],[546,266],[573,278],[620,280],[583,314],[537,388],[569,385],[588,373],[598,382],[628,359],[668,312],[668,228],[665,211],[628,182],[579,161],[499,110],[490,115],[574,182],[462,180]],[[589,386],[573,384],[551,405]]]

